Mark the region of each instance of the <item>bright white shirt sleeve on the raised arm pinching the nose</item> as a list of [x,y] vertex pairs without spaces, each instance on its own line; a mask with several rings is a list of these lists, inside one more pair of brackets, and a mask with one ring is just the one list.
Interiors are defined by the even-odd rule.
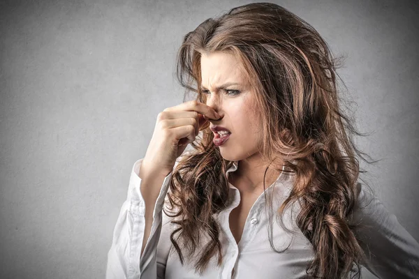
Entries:
[[[175,163],[175,167],[179,163],[179,158]],[[135,161],[131,171],[128,195],[119,211],[113,231],[112,245],[108,251],[107,279],[153,279],[157,278],[157,274],[159,274],[159,278],[164,276],[164,272],[156,270],[156,266],[159,266],[159,268],[166,267],[166,263],[156,263],[156,250],[161,234],[163,204],[168,192],[172,172],[165,177],[159,197],[157,197],[153,212],[152,229],[141,255],[145,231],[145,201],[141,195],[141,179],[138,174],[140,173],[143,159]],[[162,248],[163,246],[160,247]],[[159,255],[161,254],[162,251]],[[159,259],[164,258],[159,257]]]

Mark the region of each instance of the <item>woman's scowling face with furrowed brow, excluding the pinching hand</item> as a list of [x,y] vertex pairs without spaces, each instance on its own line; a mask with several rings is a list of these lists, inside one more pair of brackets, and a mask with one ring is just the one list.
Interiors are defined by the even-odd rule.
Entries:
[[233,54],[212,52],[201,56],[201,77],[206,104],[221,116],[210,119],[214,125],[227,128],[229,139],[219,146],[224,159],[235,161],[258,153],[262,139],[261,123],[256,119],[254,96],[245,82],[244,69]]

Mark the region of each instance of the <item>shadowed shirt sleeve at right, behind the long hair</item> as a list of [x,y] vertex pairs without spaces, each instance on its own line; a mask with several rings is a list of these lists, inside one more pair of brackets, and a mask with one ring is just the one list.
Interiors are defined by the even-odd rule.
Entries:
[[358,183],[358,205],[353,222],[368,261],[362,264],[381,279],[419,278],[419,244],[381,201]]

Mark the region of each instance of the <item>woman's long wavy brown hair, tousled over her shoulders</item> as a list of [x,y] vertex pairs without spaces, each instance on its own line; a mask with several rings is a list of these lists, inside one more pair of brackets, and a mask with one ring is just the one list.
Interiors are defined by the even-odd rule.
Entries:
[[[186,93],[196,93],[202,103],[206,96],[200,89],[200,56],[207,52],[230,53],[242,63],[256,94],[256,112],[267,123],[259,146],[263,162],[277,170],[284,165],[295,177],[277,213],[284,227],[285,209],[294,202],[300,204],[296,224],[314,250],[307,274],[346,278],[354,272],[360,276],[365,254],[348,216],[357,199],[358,176],[365,172],[356,156],[372,162],[353,143],[353,135],[365,134],[356,130],[341,109],[336,73],[341,57],[332,57],[310,24],[274,3],[233,8],[184,36],[177,55],[177,78]],[[176,229],[170,240],[181,263],[182,252],[193,255],[203,236],[210,240],[194,257],[199,273],[217,252],[217,264],[222,262],[221,229],[215,215],[228,206],[226,171],[233,164],[212,143],[208,126],[191,143],[194,151],[174,169],[168,192],[170,211],[177,209],[171,217],[178,217],[172,219]],[[265,186],[265,177],[263,182]],[[270,243],[282,252],[273,247],[272,234]]]

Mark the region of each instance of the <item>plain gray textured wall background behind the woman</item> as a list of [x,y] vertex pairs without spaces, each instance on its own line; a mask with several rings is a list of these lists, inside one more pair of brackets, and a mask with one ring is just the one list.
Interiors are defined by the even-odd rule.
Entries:
[[[348,57],[365,177],[419,239],[418,1],[275,2]],[[244,3],[0,1],[0,278],[104,278],[182,36]]]

